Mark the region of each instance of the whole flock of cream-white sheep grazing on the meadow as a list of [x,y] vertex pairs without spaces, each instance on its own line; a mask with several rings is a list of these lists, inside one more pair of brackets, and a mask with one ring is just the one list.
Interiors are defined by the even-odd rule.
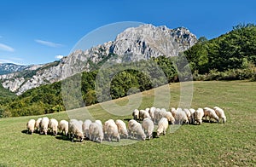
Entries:
[[[222,119],[222,122],[226,122],[224,110],[219,107],[198,108],[197,110],[173,108],[170,112],[167,112],[165,108],[146,108],[145,110],[135,109],[132,112],[133,119],[128,122],[128,129],[124,121],[117,119],[109,119],[104,124],[101,120],[92,122],[90,119],[86,119],[84,122],[77,119],[61,120],[58,122],[55,118],[38,118],[30,119],[27,124],[27,133],[33,133],[37,131],[40,134],[47,135],[51,132],[53,135],[57,135],[58,131],[62,135],[68,135],[70,140],[73,141],[77,138],[79,141],[83,141],[84,138],[90,141],[102,142],[106,141],[120,141],[120,138],[150,140],[153,137],[154,124],[157,124],[156,136],[160,134],[166,135],[166,130],[169,124],[202,124],[203,118],[210,122],[218,122]],[[140,123],[142,121],[142,124]],[[136,135],[136,136],[135,136]]]

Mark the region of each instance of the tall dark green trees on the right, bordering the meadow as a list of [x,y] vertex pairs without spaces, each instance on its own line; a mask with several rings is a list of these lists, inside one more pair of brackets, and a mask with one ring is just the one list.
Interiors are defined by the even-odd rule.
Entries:
[[184,54],[195,80],[255,80],[256,26],[240,24],[209,41],[200,37]]

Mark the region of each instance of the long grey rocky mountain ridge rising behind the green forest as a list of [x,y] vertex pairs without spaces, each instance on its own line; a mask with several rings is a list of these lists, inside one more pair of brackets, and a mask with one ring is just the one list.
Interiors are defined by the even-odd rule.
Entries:
[[53,63],[30,66],[21,72],[0,75],[5,89],[21,95],[41,84],[54,83],[75,73],[96,69],[110,58],[115,62],[148,60],[160,55],[177,56],[197,42],[188,29],[142,25],[121,32],[114,41],[86,50],[76,50]]

